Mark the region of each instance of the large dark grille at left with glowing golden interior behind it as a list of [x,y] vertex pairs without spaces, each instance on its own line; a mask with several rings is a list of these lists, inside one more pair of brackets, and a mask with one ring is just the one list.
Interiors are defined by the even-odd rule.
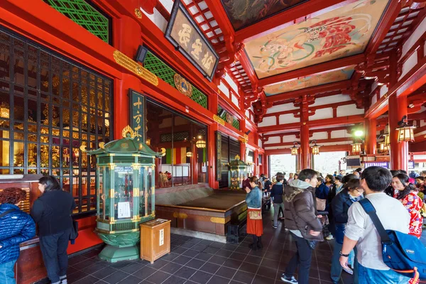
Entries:
[[96,159],[111,141],[112,80],[0,28],[0,174],[54,175],[96,209]]

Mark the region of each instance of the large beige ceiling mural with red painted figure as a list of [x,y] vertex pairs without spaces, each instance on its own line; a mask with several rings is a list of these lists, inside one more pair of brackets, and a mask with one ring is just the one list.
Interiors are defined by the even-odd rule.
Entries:
[[259,79],[364,52],[388,0],[361,0],[245,43]]

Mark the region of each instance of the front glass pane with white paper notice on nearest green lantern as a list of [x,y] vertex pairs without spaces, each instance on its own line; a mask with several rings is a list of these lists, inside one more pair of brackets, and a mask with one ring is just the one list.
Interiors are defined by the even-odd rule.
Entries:
[[133,167],[114,168],[114,187],[115,218],[133,218]]

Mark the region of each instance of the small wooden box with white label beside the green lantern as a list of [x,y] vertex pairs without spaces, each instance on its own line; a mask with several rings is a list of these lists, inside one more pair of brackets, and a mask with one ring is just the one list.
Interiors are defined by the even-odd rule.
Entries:
[[141,224],[141,259],[151,261],[170,253],[170,220],[155,219]]

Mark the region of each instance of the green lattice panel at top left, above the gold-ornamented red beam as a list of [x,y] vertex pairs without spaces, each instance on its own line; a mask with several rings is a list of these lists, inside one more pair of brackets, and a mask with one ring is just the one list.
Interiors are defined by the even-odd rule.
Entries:
[[43,0],[56,11],[109,43],[109,18],[99,13],[84,0]]

